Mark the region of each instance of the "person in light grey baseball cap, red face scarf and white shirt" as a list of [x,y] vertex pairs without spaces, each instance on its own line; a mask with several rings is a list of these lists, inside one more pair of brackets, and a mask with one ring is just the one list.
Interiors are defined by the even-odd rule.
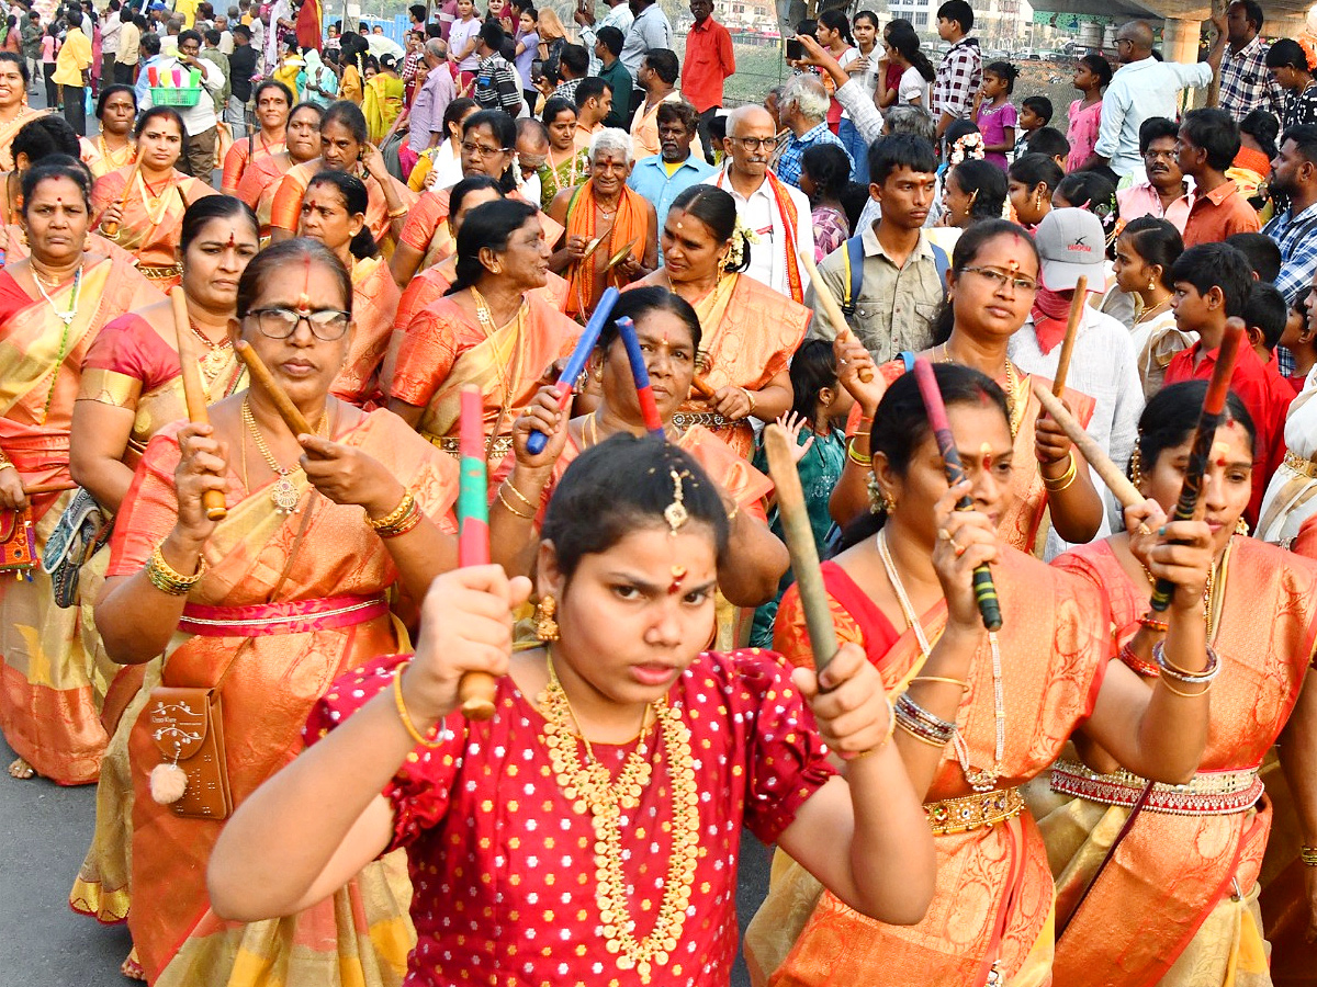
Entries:
[[[1052,209],[1034,233],[1040,259],[1038,295],[1019,330],[1010,337],[1008,355],[1021,370],[1052,379],[1060,359],[1071,300],[1080,276],[1100,293],[1105,280],[1106,236],[1102,222],[1087,209]],[[1087,301],[1087,300],[1085,300]],[[1065,386],[1094,401],[1088,433],[1118,463],[1127,462],[1143,412],[1143,387],[1130,330],[1089,304],[1084,305]],[[1093,486],[1102,490],[1097,478]],[[1110,534],[1104,521],[1097,538]],[[1047,533],[1047,558],[1068,547]]]

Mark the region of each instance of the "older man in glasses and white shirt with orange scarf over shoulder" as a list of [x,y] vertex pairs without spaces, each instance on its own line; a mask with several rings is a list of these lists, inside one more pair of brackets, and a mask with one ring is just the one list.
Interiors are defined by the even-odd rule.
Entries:
[[757,236],[745,274],[803,304],[807,275],[799,258],[814,259],[810,200],[768,170],[776,139],[766,109],[738,107],[727,117],[727,161],[703,184],[730,192],[741,224]]

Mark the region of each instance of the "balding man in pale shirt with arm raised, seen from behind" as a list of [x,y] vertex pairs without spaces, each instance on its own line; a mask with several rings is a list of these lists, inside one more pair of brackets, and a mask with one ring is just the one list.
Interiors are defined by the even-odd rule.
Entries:
[[1209,86],[1221,70],[1225,50],[1225,18],[1213,20],[1217,37],[1206,62],[1180,64],[1152,58],[1152,28],[1147,21],[1130,21],[1115,36],[1121,67],[1102,96],[1102,122],[1088,164],[1110,164],[1121,178],[1143,180],[1139,155],[1139,128],[1150,117],[1176,117],[1180,89]]

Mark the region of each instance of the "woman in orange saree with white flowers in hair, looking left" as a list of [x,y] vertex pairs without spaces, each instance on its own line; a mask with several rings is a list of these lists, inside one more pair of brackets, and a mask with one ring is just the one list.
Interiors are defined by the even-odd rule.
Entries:
[[703,326],[703,379],[714,396],[687,400],[680,429],[702,425],[747,459],[751,416],[773,421],[792,408],[788,363],[805,338],[810,311],[747,278],[749,246],[736,201],[720,188],[691,186],[662,220],[664,266],[637,284],[656,284],[694,305]]

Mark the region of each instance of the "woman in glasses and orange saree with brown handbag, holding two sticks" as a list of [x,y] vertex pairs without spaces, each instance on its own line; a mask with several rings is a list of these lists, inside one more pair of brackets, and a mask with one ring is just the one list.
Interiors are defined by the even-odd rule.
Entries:
[[[211,425],[151,440],[115,528],[96,612],[105,647],[125,663],[163,653],[165,687],[216,690],[219,763],[237,804],[298,753],[312,704],[337,675],[406,647],[390,594],[419,597],[456,563],[452,461],[389,412],[328,393],[348,353],[350,304],[348,274],[320,243],[295,240],[252,261],[230,332],[316,434],[299,442],[261,390],[233,395],[211,408]],[[202,508],[207,490],[224,492],[219,524]],[[204,875],[224,811],[198,817],[155,801],[149,775],[171,758],[153,734],[148,705],[129,740],[129,928],[146,979],[238,987],[269,983],[274,970],[284,983],[333,970],[344,983],[396,984],[412,942],[396,862],[371,863],[296,916],[219,921]]]

